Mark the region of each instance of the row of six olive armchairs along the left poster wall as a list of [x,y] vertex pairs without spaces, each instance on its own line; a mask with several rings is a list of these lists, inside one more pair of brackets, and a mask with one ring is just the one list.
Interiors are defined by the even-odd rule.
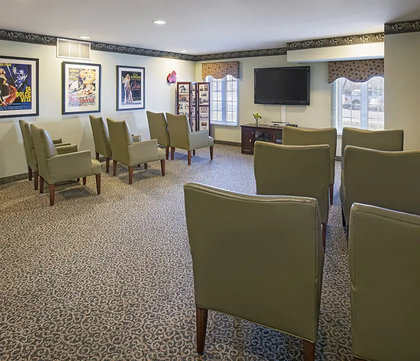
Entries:
[[[77,145],[63,143],[61,138],[51,139],[48,132],[19,120],[22,133],[26,161],[28,164],[28,178],[31,181],[34,174],[34,189],[44,191],[44,180],[50,186],[50,205],[55,198],[55,184],[70,179],[83,178],[86,185],[87,176],[96,176],[97,192],[101,192],[101,163],[99,155],[105,155],[106,172],[109,172],[109,161],[113,159],[113,175],[117,174],[118,162],[128,167],[129,184],[133,183],[133,168],[144,163],[147,169],[149,162],[160,160],[162,176],[165,175],[165,151],[158,144],[171,145],[174,158],[175,146],[188,151],[188,164],[191,164],[191,154],[203,147],[210,147],[210,158],[213,159],[213,138],[207,131],[191,132],[185,115],[176,116],[167,113],[172,129],[172,142],[169,140],[168,124],[163,113],[147,112],[150,126],[151,140],[141,141],[140,136],[130,132],[125,120],[116,121],[110,118],[106,122],[102,117],[89,116],[95,143],[96,159],[90,157],[90,151],[78,152]],[[155,138],[154,138],[155,137]],[[159,143],[160,141],[160,143]],[[64,156],[66,155],[66,156]],[[89,155],[89,156],[88,156]],[[168,148],[166,149],[168,159]]]

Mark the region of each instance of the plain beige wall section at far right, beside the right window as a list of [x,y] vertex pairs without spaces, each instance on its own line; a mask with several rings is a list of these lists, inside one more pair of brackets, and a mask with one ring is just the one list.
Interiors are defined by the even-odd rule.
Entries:
[[404,130],[404,150],[420,149],[420,33],[385,36],[385,129]]

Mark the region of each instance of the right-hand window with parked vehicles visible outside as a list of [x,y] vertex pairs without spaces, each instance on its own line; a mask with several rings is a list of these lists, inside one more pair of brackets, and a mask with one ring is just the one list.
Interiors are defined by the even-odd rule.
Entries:
[[338,78],[333,82],[331,124],[338,134],[343,127],[384,129],[384,78],[377,76],[364,83]]

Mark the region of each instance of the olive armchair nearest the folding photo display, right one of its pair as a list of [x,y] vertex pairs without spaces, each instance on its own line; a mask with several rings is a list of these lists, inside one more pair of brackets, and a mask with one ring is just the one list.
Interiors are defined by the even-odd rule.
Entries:
[[209,137],[207,130],[191,132],[190,123],[186,115],[166,113],[169,137],[171,138],[171,159],[174,159],[175,148],[188,151],[188,165],[191,164],[191,154],[195,150],[210,147],[210,159],[213,159],[214,139]]

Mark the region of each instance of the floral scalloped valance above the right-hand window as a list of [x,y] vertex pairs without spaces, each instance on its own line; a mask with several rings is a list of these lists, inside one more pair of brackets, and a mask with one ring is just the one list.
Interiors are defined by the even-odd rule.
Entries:
[[330,61],[328,63],[329,83],[338,78],[362,83],[374,76],[384,76],[384,59]]

